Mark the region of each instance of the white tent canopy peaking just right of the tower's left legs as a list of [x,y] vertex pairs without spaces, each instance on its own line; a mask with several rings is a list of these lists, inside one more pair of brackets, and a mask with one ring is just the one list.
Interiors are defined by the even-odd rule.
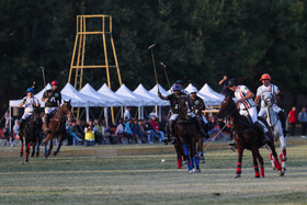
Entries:
[[87,94],[93,99],[96,99],[99,106],[122,106],[123,104],[118,99],[113,99],[111,96],[104,95],[95,91],[89,83],[87,83],[80,91],[82,94]]

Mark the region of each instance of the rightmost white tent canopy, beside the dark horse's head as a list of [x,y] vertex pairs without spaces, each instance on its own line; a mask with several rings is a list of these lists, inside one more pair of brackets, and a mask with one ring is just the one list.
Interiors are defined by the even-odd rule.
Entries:
[[212,90],[207,83],[198,91],[197,95],[204,100],[206,105],[220,105],[224,100],[224,95]]

